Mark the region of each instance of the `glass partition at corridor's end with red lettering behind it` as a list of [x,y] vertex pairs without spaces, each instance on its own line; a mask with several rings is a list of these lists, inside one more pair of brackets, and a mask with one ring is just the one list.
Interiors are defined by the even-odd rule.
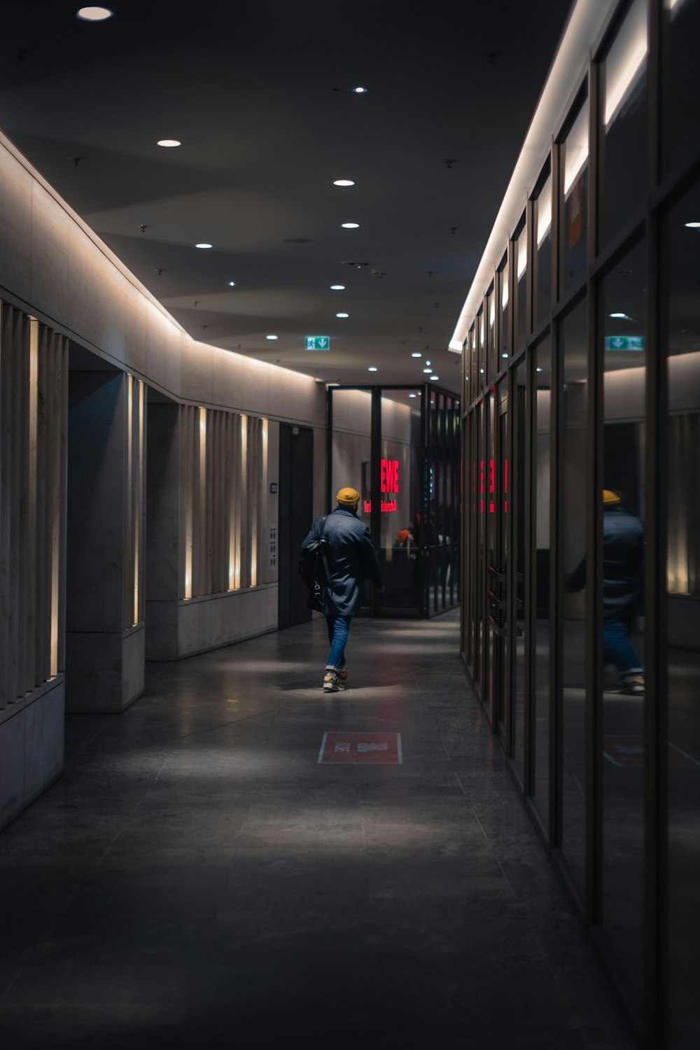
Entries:
[[360,492],[358,517],[385,589],[364,615],[431,616],[460,601],[461,402],[432,385],[328,387],[327,509]]

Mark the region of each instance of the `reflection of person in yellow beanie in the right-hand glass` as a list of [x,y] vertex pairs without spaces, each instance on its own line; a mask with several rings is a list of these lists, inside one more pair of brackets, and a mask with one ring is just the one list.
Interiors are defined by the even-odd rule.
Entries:
[[[644,672],[630,642],[630,631],[641,607],[641,568],[644,526],[628,513],[617,492],[602,491],[602,656],[614,664],[625,693],[644,692]],[[586,559],[567,580],[567,590],[586,583]]]

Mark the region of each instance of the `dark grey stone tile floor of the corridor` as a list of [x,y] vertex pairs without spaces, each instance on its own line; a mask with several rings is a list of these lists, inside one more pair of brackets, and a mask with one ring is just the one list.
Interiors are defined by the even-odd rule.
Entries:
[[458,626],[354,622],[344,693],[316,622],[69,716],[65,775],[0,836],[3,1050],[635,1047]]

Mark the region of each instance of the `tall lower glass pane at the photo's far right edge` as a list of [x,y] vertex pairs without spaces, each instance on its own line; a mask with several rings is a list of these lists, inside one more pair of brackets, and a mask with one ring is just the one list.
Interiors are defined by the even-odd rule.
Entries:
[[700,186],[670,212],[669,987],[671,1045],[700,1046]]

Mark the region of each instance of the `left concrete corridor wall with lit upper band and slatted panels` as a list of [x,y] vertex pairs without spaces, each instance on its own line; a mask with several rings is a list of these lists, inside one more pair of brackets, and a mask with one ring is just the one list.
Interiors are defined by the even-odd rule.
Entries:
[[[56,345],[59,340],[64,356],[67,339],[71,346],[82,348],[81,353],[89,351],[102,366],[111,365],[121,374],[114,380],[118,384],[126,376],[127,387],[137,392],[142,408],[144,388],[139,380],[169,398],[174,411],[192,405],[218,410],[219,416],[238,414],[249,419],[264,419],[268,448],[273,458],[277,449],[274,421],[312,426],[314,500],[319,511],[323,509],[324,387],[310,377],[193,340],[1,134],[0,243],[3,246],[0,300],[12,317],[18,318],[22,331],[31,326],[37,328],[37,321],[29,320],[34,317],[39,322],[37,331],[45,332]],[[21,354],[18,360],[23,360]],[[85,381],[88,385],[91,382]],[[72,383],[76,393],[80,385],[76,376]],[[50,406],[51,401],[46,399],[46,404]],[[112,408],[111,423],[118,418],[118,406]],[[256,482],[262,511],[249,522],[249,531],[254,530],[257,543],[256,585],[226,593],[198,594],[187,601],[182,592],[178,553],[169,568],[161,564],[158,571],[150,575],[144,566],[144,536],[148,540],[146,546],[150,543],[154,548],[154,538],[160,537],[166,544],[174,543],[176,551],[181,549],[182,477],[178,475],[177,481],[173,476],[172,487],[166,485],[161,491],[153,508],[154,518],[149,521],[145,500],[148,465],[143,456],[147,412],[139,410],[135,415],[136,412],[132,405],[126,420],[122,413],[113,434],[110,435],[108,426],[102,432],[113,454],[109,469],[104,459],[90,465],[94,448],[90,447],[89,436],[83,435],[82,448],[80,439],[73,436],[77,455],[71,462],[67,500],[65,485],[61,489],[67,463],[66,443],[59,435],[58,443],[51,445],[57,450],[59,470],[54,486],[58,524],[51,539],[52,553],[47,560],[36,562],[39,583],[50,578],[46,593],[52,611],[46,624],[50,624],[52,632],[47,649],[52,654],[51,666],[43,669],[28,687],[23,686],[18,695],[14,686],[9,692],[5,688],[16,677],[16,670],[8,676],[4,672],[0,675],[3,681],[0,826],[60,775],[66,702],[81,711],[121,711],[143,689],[147,650],[161,658],[178,658],[274,630],[277,625],[277,583],[269,546],[271,529],[276,528],[276,498],[269,492],[270,457],[261,463]],[[29,430],[15,426],[13,419],[12,413],[3,413],[7,447],[14,449],[18,462],[33,462],[35,454],[23,444]],[[168,455],[172,446],[158,447],[156,441],[152,448],[154,459],[160,456],[166,469],[170,469]],[[207,484],[210,483],[218,484],[208,476]],[[91,486],[97,486],[100,499]],[[13,524],[18,520],[20,488],[15,485],[8,494],[7,499],[3,496],[5,533],[22,536]],[[246,499],[245,492],[238,495]],[[211,492],[207,498],[210,497]],[[71,625],[66,635],[64,519],[71,500],[73,541],[68,580]],[[87,530],[83,529],[85,544],[81,549],[83,520]],[[44,539],[40,537],[41,542]],[[60,552],[58,561],[56,552]],[[98,568],[93,575],[90,563],[93,569]],[[31,565],[34,571],[34,559],[25,559],[25,564]],[[105,572],[109,575],[110,567],[113,586],[110,585],[107,601],[97,587],[97,576]],[[22,593],[17,588],[3,591],[5,596],[16,596],[20,611],[24,608]],[[3,623],[17,623],[17,610],[14,606],[13,609],[3,606]],[[105,624],[94,630],[94,624],[105,617]],[[13,668],[24,667],[28,652],[24,635],[18,636],[17,644],[9,634],[6,640],[5,649],[14,653],[16,660]]]

